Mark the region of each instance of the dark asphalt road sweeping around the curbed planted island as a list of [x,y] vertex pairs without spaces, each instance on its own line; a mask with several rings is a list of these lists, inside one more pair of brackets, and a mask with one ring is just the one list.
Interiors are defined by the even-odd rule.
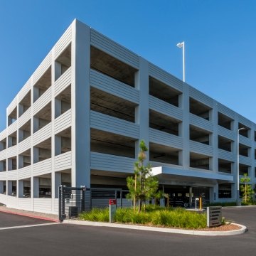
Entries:
[[223,215],[247,225],[249,231],[243,235],[202,237],[70,224],[45,225],[0,230],[0,255],[256,255],[256,207],[226,208]]

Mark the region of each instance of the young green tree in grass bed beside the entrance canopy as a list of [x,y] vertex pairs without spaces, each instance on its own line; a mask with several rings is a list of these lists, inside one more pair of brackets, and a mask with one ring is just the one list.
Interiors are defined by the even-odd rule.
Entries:
[[151,174],[150,164],[144,166],[146,160],[146,151],[148,151],[144,140],[139,143],[138,161],[134,163],[134,176],[127,178],[127,187],[129,189],[128,198],[134,202],[134,212],[137,202],[139,203],[139,213],[142,210],[142,203],[144,206],[146,200],[153,198],[159,188],[158,179]]

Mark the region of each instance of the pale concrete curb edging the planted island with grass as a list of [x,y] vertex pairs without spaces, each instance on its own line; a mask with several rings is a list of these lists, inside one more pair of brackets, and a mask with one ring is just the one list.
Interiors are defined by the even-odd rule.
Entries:
[[90,225],[96,227],[108,227],[108,228],[127,228],[132,230],[146,230],[146,231],[155,231],[155,232],[164,232],[164,233],[176,233],[183,235],[240,235],[247,231],[247,228],[244,225],[233,223],[240,226],[240,230],[231,230],[231,231],[201,231],[201,230],[183,230],[178,228],[156,228],[156,227],[146,227],[140,225],[126,225],[126,224],[116,224],[116,223],[100,223],[93,221],[85,220],[64,220],[63,223],[75,224],[75,225]]

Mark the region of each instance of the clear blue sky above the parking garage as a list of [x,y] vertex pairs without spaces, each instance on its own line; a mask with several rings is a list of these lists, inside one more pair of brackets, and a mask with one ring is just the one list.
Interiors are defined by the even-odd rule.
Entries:
[[74,18],[256,122],[254,0],[0,0],[0,131],[6,107]]

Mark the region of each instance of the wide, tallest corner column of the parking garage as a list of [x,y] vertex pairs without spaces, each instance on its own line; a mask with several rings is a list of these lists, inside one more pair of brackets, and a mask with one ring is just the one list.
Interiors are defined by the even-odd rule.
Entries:
[[90,187],[90,27],[72,23],[72,186]]

